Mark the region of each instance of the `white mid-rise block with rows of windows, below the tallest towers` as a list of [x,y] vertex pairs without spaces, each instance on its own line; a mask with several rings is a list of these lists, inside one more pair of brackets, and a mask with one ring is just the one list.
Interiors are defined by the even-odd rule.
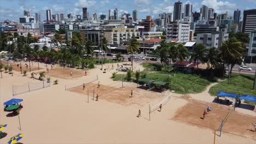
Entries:
[[167,25],[167,39],[178,39],[179,43],[189,41],[190,23],[170,22]]

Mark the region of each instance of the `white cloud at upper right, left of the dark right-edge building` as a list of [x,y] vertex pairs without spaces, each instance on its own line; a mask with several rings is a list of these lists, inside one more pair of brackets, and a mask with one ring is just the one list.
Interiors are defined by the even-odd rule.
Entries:
[[213,8],[217,13],[229,12],[231,15],[236,9],[236,3],[230,3],[228,1],[218,1],[218,0],[203,0],[201,4],[207,5],[208,8]]

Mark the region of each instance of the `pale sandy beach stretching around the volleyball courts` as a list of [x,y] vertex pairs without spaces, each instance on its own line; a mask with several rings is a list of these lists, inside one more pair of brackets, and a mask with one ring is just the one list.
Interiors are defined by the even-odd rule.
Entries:
[[[36,70],[34,73],[46,71],[44,64],[40,63],[39,67],[40,70]],[[114,64],[113,69],[110,69],[112,64],[104,65],[104,68],[107,68],[107,73],[102,73],[100,67],[100,65],[96,65],[96,68],[87,70],[88,74],[86,76],[83,75],[82,70],[73,69],[73,74],[77,74],[77,76],[69,77],[69,70],[63,71],[61,70],[63,68],[55,65],[55,71],[49,70],[49,74],[46,73],[46,76],[51,77],[50,87],[15,96],[12,93],[13,85],[24,85],[27,82],[35,83],[39,80],[31,79],[29,72],[29,76],[22,76],[19,71],[14,71],[13,76],[3,73],[3,79],[0,79],[0,123],[8,125],[3,130],[4,133],[7,133],[7,136],[0,139],[0,143],[7,143],[11,136],[19,133],[24,134],[24,137],[19,141],[21,143],[213,143],[214,129],[199,127],[196,124],[175,119],[179,115],[177,112],[181,112],[184,106],[191,103],[191,100],[201,101],[200,103],[207,103],[207,105],[211,104],[214,97],[208,94],[210,87],[207,87],[203,93],[189,94],[187,97],[172,93],[171,99],[162,107],[162,111],[151,113],[149,121],[149,104],[152,106],[158,105],[159,101],[170,92],[164,95],[159,94],[159,96],[154,95],[153,92],[145,92],[144,94],[148,94],[152,98],[130,99],[119,97],[120,99],[116,101],[115,97],[121,94],[109,94],[109,96],[106,94],[105,98],[101,99],[104,95],[104,93],[101,93],[98,101],[92,100],[91,88],[95,87],[98,81],[100,81],[102,89],[103,87],[109,89],[114,83],[110,77],[117,68],[117,64]],[[135,67],[143,70],[139,63],[135,63]],[[57,73],[57,69],[62,72]],[[62,73],[68,74],[63,75]],[[66,79],[63,79],[63,76],[66,76]],[[53,85],[53,81],[56,79],[59,80],[59,84]],[[82,90],[72,91],[71,89],[65,91],[65,86],[75,87],[91,81],[94,82],[90,84],[89,101],[86,92],[79,92]],[[107,87],[108,85],[110,86]],[[216,85],[216,83],[212,85]],[[123,92],[127,91],[129,94],[131,88],[137,93],[146,91],[136,90],[136,84],[134,85],[134,83],[125,82],[124,86]],[[113,87],[120,88],[121,83],[118,82]],[[126,87],[127,89],[125,89]],[[116,90],[110,92],[114,93]],[[127,95],[127,97],[129,96]],[[24,108],[20,111],[21,130],[18,116],[7,117],[8,112],[3,111],[4,101],[11,98],[24,99],[21,102]],[[143,99],[146,100],[143,101]],[[124,103],[121,103],[122,100]],[[228,110],[230,107],[226,106],[223,109]],[[142,111],[142,117],[136,117],[138,109]],[[255,110],[237,108],[236,112],[256,119]],[[201,116],[202,112],[198,115]],[[217,112],[216,115],[218,115]],[[200,117],[195,118],[198,118],[199,122],[204,121]],[[211,123],[211,121],[207,122]],[[229,121],[226,123],[229,123]],[[240,136],[224,132],[221,137],[216,136],[216,143],[256,143],[256,132],[249,131],[253,129],[253,125],[251,125],[251,128],[249,126],[243,128],[243,125],[240,127],[239,124],[235,124],[231,123],[229,127],[248,129],[246,131],[248,134]],[[226,129],[226,131],[228,130]]]

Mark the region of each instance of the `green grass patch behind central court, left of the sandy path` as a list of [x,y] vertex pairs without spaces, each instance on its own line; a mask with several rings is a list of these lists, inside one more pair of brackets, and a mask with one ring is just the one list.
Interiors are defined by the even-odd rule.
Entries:
[[170,89],[176,93],[200,93],[211,84],[211,81],[202,79],[200,76],[183,73],[156,72],[147,75],[148,78],[170,82]]

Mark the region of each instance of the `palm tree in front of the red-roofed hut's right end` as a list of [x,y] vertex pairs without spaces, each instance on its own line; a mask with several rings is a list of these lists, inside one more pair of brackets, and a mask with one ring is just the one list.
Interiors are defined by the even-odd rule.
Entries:
[[197,44],[195,46],[195,49],[191,53],[190,62],[191,61],[197,62],[197,75],[199,75],[199,68],[198,68],[199,60],[201,63],[205,63],[206,62],[206,54],[207,54],[207,49],[206,49],[205,45],[203,45],[203,44]]

